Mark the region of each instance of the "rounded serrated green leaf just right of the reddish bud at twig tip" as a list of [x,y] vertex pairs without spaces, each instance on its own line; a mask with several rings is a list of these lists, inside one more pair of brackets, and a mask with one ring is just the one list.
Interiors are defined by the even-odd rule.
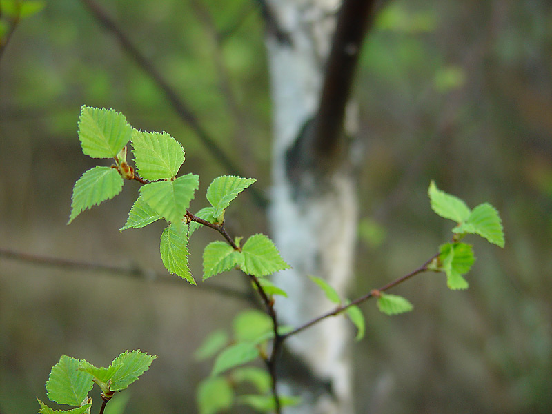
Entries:
[[156,180],[177,175],[184,163],[184,149],[167,132],[132,131],[132,147],[139,175]]

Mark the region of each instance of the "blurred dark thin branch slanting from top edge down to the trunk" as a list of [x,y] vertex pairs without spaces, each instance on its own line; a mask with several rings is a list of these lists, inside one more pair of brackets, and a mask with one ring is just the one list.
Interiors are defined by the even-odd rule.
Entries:
[[[144,55],[134,46],[132,41],[126,36],[126,34],[117,26],[117,23],[103,10],[95,0],[82,0],[82,2],[88,7],[88,10],[92,12],[92,15],[101,23],[101,26],[108,30],[121,44],[121,48],[137,63],[137,65],[146,72],[146,74],[154,81],[159,89],[164,93],[166,99],[175,109],[175,112],[199,137],[200,141],[206,146],[207,150],[211,152],[213,157],[226,168],[228,173],[232,175],[242,176],[239,168],[235,166],[233,161],[226,155],[226,153],[217,145],[215,140],[210,137],[208,132],[199,124],[199,120],[195,117],[190,106],[184,99],[179,97],[177,92],[172,86],[164,79],[161,73],[153,66],[152,62],[146,59]],[[252,188],[253,198],[255,202],[261,208],[266,208],[268,201],[259,190]]]

